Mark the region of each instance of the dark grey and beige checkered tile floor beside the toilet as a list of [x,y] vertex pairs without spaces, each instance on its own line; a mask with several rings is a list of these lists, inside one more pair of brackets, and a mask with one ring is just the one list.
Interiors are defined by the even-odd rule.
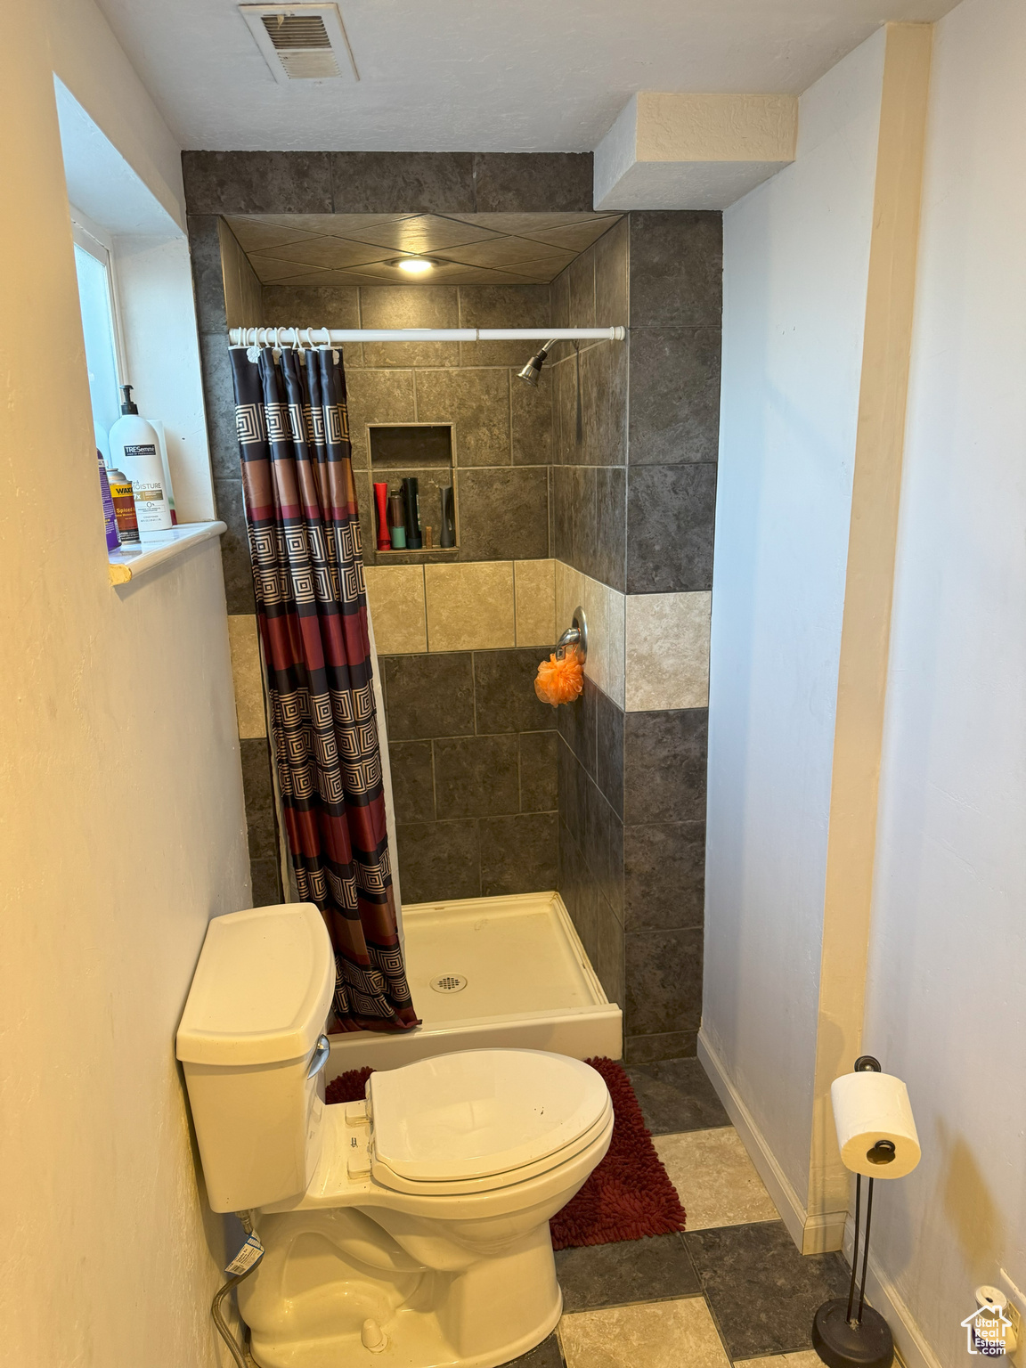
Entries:
[[628,1073],[688,1228],[561,1250],[560,1327],[510,1368],[821,1368],[813,1315],[844,1260],[795,1249],[696,1059]]

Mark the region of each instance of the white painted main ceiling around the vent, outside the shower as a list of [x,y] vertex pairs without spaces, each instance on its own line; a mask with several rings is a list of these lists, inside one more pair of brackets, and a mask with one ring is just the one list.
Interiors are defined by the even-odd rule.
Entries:
[[183,148],[591,152],[635,90],[799,94],[955,0],[338,0],[360,81],[276,85],[235,0],[98,0]]

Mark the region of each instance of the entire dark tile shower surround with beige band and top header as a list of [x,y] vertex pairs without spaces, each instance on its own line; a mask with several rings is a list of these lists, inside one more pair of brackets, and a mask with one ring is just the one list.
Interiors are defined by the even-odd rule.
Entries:
[[[332,209],[590,209],[591,159],[187,153],[185,170],[215,487],[220,516],[230,525],[224,562],[228,611],[237,618],[233,651],[239,658],[245,653],[253,657],[254,639],[242,627],[253,611],[252,584],[230,431],[224,291],[215,250],[218,216]],[[389,557],[387,565],[375,565],[369,528],[364,529],[369,592],[382,632],[386,709],[397,748],[397,808],[405,828],[399,859],[404,880],[410,880],[404,886],[405,899],[440,896],[443,876],[447,896],[513,891],[524,886],[521,870],[532,886],[551,886],[557,832],[558,886],[609,996],[625,1008],[627,1053],[635,1060],[692,1053],[700,1018],[720,276],[718,215],[631,213],[554,282],[553,324],[627,321],[631,337],[627,345],[584,345],[580,353],[564,345],[553,357],[554,413],[546,457],[551,462],[546,480],[550,528],[544,546],[540,536],[538,544],[524,543],[523,528],[503,524],[503,509],[512,510],[516,501],[503,502],[501,495],[491,503],[492,517],[483,523],[473,518],[472,536],[491,540],[465,543],[461,525],[456,555],[410,555],[405,565]],[[237,321],[293,321],[293,311],[309,302],[316,305],[312,323],[342,327],[357,326],[354,319],[360,319],[369,327],[384,326],[382,320],[389,317],[397,326],[413,324],[413,291],[399,287],[360,294],[332,289],[316,301],[293,300],[280,290],[268,290],[265,297],[280,319]],[[494,295],[490,304],[487,289],[436,294],[431,301],[438,309],[435,326],[487,326],[499,316],[508,321],[512,301]],[[484,312],[479,317],[469,313],[477,308],[471,295],[480,297]],[[379,305],[393,312],[376,313]],[[531,306],[542,309],[542,297],[536,294]],[[514,436],[514,405],[528,391],[513,386],[509,368],[525,360],[521,349],[502,364],[491,347],[490,364],[483,364],[483,356],[456,349],[423,358],[415,358],[408,347],[376,349],[369,357],[368,352],[346,352],[350,386],[356,382],[354,430],[379,421],[368,416],[367,405],[378,406],[384,415],[380,421],[417,416],[445,421],[446,415],[432,406],[440,393],[450,415],[462,408],[462,421],[479,434],[465,447],[486,454],[476,465],[473,458],[466,461],[472,480],[482,480],[479,471],[494,471],[512,490],[521,469],[542,465],[544,419],[535,412],[531,443],[517,446]],[[476,376],[482,383],[475,395],[458,372],[503,368],[509,406],[499,425],[509,434],[509,458],[495,460],[488,453],[495,449],[495,419],[503,412],[502,384],[495,375]],[[361,372],[367,373],[363,394]],[[428,401],[423,410],[421,395]],[[390,406],[393,401],[395,406]],[[365,457],[361,469],[367,471]],[[361,490],[361,502],[369,510],[367,473],[363,479],[368,490],[365,497]],[[488,475],[479,488],[491,480]],[[528,536],[535,536],[540,501],[535,506],[528,498]],[[445,560],[462,564],[446,565]],[[538,595],[527,594],[521,601],[517,580],[540,573],[543,565],[554,572],[551,633],[535,622],[525,624],[521,635],[521,602]],[[446,588],[446,573],[476,576],[483,570],[487,584],[483,579],[473,588],[469,581]],[[386,602],[401,610],[390,616]],[[591,627],[588,679],[583,699],[560,709],[557,741],[551,711],[532,713],[540,705],[527,689],[536,659],[569,624],[579,602]],[[480,609],[482,603],[487,611],[466,614],[468,606]],[[497,622],[505,636],[475,635],[494,632]],[[466,635],[446,635],[454,625],[466,627]],[[434,684],[425,688],[425,679]],[[256,700],[246,706],[245,698],[244,687],[241,726],[244,715],[256,726]],[[424,706],[439,698],[445,698],[442,710],[432,713]],[[268,876],[275,870],[274,851],[261,855],[274,840],[263,737],[244,741],[244,766],[248,798],[254,795],[254,893],[257,902],[272,900],[269,880],[263,896],[256,892],[261,866]],[[460,806],[468,784],[486,795],[486,808],[469,817]],[[529,828],[536,834],[524,844],[517,832]]]

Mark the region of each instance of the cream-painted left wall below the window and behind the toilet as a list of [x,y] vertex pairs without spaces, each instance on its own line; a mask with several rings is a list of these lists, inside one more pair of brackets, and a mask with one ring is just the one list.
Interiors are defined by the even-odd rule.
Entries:
[[223,1239],[172,1041],[249,897],[220,558],[108,583],[45,19],[0,45],[0,1338],[209,1368]]

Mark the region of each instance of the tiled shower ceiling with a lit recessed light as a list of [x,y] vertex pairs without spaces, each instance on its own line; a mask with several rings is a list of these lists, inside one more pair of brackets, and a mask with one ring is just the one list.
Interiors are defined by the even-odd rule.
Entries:
[[[264,285],[547,285],[617,213],[231,215]],[[398,256],[430,256],[409,276]]]

